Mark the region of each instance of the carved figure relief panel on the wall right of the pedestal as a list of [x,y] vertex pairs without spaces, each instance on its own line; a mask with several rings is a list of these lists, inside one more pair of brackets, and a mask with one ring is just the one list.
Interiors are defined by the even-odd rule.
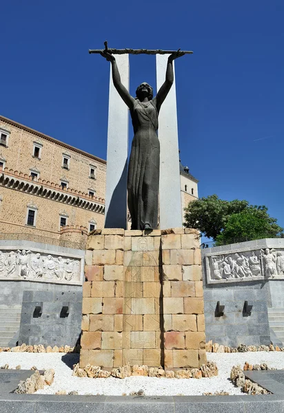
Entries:
[[209,284],[254,279],[284,279],[284,249],[265,248],[206,255]]

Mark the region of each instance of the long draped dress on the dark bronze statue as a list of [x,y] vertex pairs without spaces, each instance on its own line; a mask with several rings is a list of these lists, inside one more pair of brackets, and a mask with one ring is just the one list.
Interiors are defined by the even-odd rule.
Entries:
[[131,229],[155,229],[158,225],[160,142],[157,136],[156,100],[135,99],[130,110],[134,138],[128,167],[128,208]]

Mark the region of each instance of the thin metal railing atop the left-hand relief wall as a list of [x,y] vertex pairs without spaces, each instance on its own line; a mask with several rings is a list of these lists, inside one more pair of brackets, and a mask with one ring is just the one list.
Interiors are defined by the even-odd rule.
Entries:
[[73,242],[29,233],[0,233],[0,240],[32,241],[39,242],[41,244],[65,246],[66,248],[85,249],[85,240],[82,240],[82,242]]

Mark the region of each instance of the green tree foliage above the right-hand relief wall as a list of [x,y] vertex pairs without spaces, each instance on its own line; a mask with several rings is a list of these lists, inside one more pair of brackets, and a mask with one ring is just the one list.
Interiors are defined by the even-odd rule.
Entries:
[[255,240],[261,233],[275,236],[283,231],[276,222],[264,205],[250,205],[245,200],[225,201],[217,195],[192,201],[185,208],[184,225],[199,229],[218,244],[234,238]]

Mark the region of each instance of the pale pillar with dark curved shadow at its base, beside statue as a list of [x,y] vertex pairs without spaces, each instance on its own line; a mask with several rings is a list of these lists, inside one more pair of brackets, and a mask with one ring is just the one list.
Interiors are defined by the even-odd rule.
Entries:
[[[129,55],[116,54],[121,82],[129,90]],[[105,228],[127,229],[128,107],[112,82],[108,107]]]

